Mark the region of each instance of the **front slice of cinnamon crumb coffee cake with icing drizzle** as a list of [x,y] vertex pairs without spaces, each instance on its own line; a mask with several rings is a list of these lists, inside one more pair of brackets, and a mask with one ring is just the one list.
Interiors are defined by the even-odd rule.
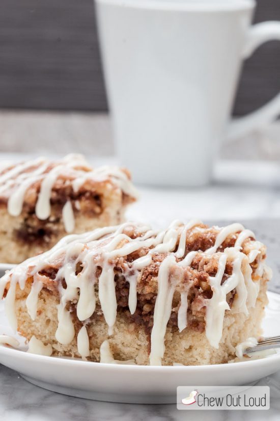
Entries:
[[[241,224],[127,222],[61,239],[0,281],[31,349],[108,363],[215,364],[261,334],[266,248]],[[41,351],[40,351],[41,350]]]

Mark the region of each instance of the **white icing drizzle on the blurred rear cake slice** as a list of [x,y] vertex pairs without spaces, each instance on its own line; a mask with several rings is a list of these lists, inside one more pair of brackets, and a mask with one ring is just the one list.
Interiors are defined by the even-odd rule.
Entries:
[[[137,197],[138,193],[128,179],[128,176],[118,167],[103,166],[92,169],[82,155],[70,154],[54,164],[48,172],[52,162],[45,158],[38,158],[34,161],[16,164],[8,169],[10,164],[1,167],[6,172],[0,176],[0,193],[8,196],[8,212],[12,216],[18,216],[22,212],[26,191],[36,182],[40,182],[40,191],[35,206],[36,216],[45,220],[50,216],[51,192],[59,177],[66,177],[68,183],[72,184],[74,191],[85,184],[88,180],[102,182],[109,180],[113,185],[124,193]],[[12,189],[12,192],[10,193]],[[79,209],[79,203],[75,204]],[[62,211],[65,231],[73,232],[75,228],[74,212],[70,201],[66,202]]]

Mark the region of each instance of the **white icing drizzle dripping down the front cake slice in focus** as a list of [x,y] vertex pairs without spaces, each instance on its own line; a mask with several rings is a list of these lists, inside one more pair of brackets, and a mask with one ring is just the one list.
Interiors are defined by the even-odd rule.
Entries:
[[[58,281],[60,304],[58,305],[58,329],[55,337],[62,344],[69,344],[75,337],[75,329],[69,304],[76,302],[77,317],[80,321],[88,320],[95,312],[96,293],[95,284],[98,282],[98,296],[104,319],[108,326],[108,335],[114,334],[114,325],[117,317],[117,299],[115,290],[115,276],[122,275],[115,271],[114,259],[122,259],[131,253],[143,249],[146,255],[128,263],[124,260],[123,275],[129,283],[128,305],[131,314],[137,306],[137,280],[141,278],[141,271],[153,262],[159,253],[166,256],[161,263],[157,260],[158,293],[154,308],[154,324],[151,333],[150,363],[160,365],[164,355],[164,336],[166,326],[172,311],[172,301],[176,286],[181,290],[181,302],[178,310],[178,329],[181,332],[187,327],[188,290],[191,283],[182,282],[185,271],[191,265],[197,254],[202,255],[200,270],[203,269],[204,260],[213,258],[218,260],[218,270],[215,276],[209,278],[213,295],[205,299],[206,307],[206,336],[214,348],[218,348],[223,329],[223,318],[226,310],[230,310],[227,303],[227,294],[235,289],[235,299],[231,308],[233,312],[248,313],[248,309],[255,305],[259,292],[259,282],[252,280],[253,262],[261,253],[262,243],[251,241],[251,250],[247,255],[241,252],[242,243],[248,237],[254,237],[249,230],[244,230],[240,224],[232,224],[219,230],[215,244],[205,252],[186,252],[188,231],[203,232],[207,228],[198,227],[201,222],[190,221],[184,225],[174,221],[169,228],[163,231],[151,230],[145,225],[135,225],[131,222],[117,227],[100,228],[92,232],[79,235],[68,235],[61,239],[50,251],[28,259],[18,265],[11,273],[7,273],[0,281],[0,291],[4,291],[7,282],[10,288],[6,298],[6,311],[12,327],[16,330],[15,315],[15,288],[17,283],[24,288],[27,277],[34,276],[34,284],[26,300],[26,307],[32,318],[36,317],[36,307],[41,284],[37,274],[44,267],[60,261],[59,271],[55,278]],[[134,229],[138,232],[136,238],[126,234]],[[240,232],[239,234],[236,234]],[[216,252],[225,239],[232,234],[235,236],[235,245],[225,249],[222,253]],[[181,260],[179,260],[181,259]],[[179,260],[179,261],[178,261]],[[232,262],[232,274],[225,275],[226,264]],[[97,268],[101,271],[97,279]],[[77,270],[79,268],[79,270]],[[264,261],[259,262],[255,275],[268,270]],[[99,273],[100,273],[99,271]],[[118,275],[119,274],[119,275]],[[269,274],[268,274],[269,275]],[[259,275],[261,276],[261,275]],[[66,287],[61,280],[65,280]],[[222,281],[224,281],[222,283]],[[88,323],[88,321],[87,321]],[[87,329],[83,326],[77,338],[78,352],[82,358],[89,355],[89,338]],[[113,356],[108,357],[109,344],[103,342],[101,346],[102,361],[112,362]],[[113,360],[112,360],[113,358]],[[122,362],[124,363],[124,362]]]

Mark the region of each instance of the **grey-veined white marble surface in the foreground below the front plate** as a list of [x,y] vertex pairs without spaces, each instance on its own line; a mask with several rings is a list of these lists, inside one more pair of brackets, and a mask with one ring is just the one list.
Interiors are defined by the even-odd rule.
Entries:
[[179,411],[176,405],[132,405],[89,401],[53,393],[26,382],[0,366],[0,419],[2,421],[278,421],[280,372],[261,380],[270,386],[267,411]]

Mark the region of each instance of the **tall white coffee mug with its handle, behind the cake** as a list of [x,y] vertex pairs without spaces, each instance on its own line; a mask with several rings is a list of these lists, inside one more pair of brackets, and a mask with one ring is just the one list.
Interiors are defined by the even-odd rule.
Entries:
[[199,186],[220,142],[263,126],[280,94],[230,121],[243,59],[280,40],[280,22],[251,27],[253,0],[96,0],[117,152],[133,180]]

